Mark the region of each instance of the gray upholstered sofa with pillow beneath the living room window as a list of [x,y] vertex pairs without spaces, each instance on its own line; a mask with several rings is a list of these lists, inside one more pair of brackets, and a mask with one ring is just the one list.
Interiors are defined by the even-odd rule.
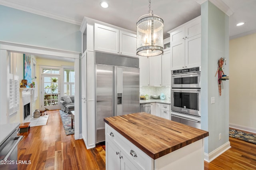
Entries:
[[71,114],[70,111],[75,109],[75,97],[74,96],[63,96],[60,98],[60,109],[65,113]]

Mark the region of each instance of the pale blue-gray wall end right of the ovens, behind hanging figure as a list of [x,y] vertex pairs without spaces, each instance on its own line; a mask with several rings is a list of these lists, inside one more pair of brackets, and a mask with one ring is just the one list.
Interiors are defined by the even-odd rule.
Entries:
[[[202,4],[201,17],[202,129],[209,132],[205,139],[204,152],[210,154],[229,141],[229,81],[222,81],[222,95],[219,96],[218,76],[214,77],[220,57],[226,57],[224,73],[229,75],[229,18],[209,1]],[[211,104],[211,97],[215,97],[214,104]]]

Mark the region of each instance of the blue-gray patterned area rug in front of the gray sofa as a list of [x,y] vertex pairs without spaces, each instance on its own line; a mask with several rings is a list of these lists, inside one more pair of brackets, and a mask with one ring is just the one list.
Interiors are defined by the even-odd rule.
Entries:
[[73,128],[71,128],[71,114],[65,113],[63,111],[60,110],[60,117],[62,120],[62,124],[66,133],[66,136],[70,135],[70,134],[74,134],[74,122],[73,122]]

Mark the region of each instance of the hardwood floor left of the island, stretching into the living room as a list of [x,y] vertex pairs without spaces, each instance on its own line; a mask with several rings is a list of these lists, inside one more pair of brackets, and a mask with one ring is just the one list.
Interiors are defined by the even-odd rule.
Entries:
[[66,136],[58,110],[47,111],[48,125],[31,127],[18,144],[18,170],[104,170],[105,151],[102,145],[86,149],[82,139]]

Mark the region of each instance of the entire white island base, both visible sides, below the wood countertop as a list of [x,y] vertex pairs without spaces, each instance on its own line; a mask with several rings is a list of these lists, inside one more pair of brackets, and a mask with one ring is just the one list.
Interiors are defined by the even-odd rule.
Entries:
[[105,123],[106,170],[204,170],[203,139],[153,159]]

